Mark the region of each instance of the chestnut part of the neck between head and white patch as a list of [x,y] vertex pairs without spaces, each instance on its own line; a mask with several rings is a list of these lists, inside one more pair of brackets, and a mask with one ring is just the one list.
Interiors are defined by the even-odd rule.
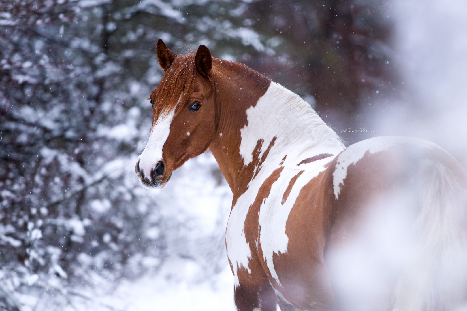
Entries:
[[248,126],[246,111],[254,107],[259,98],[266,93],[270,80],[245,65],[215,58],[210,77],[217,105],[216,133],[209,149],[232,189],[233,207],[237,198],[248,189],[248,183],[255,175],[255,168],[261,161],[255,154],[261,151],[264,143],[261,139],[260,144],[257,144],[253,151],[253,162],[244,163],[240,155],[240,130],[245,125]]

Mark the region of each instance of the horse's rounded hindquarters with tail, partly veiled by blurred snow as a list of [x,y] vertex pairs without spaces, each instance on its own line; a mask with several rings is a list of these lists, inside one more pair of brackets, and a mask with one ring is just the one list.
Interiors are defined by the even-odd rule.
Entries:
[[[337,304],[402,311],[443,309],[453,301],[443,297],[455,287],[447,267],[464,277],[454,277],[460,288],[467,276],[459,261],[467,246],[467,175],[460,164],[431,142],[379,137],[349,146],[328,169],[333,200],[325,261]],[[455,259],[438,259],[443,243],[455,244],[449,249]],[[458,301],[466,298],[465,289],[454,292]]]

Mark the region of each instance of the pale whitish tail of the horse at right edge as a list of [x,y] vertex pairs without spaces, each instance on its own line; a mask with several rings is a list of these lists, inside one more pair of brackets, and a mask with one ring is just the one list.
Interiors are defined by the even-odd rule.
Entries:
[[467,310],[467,173],[442,153],[420,162],[419,247],[396,286],[397,311]]

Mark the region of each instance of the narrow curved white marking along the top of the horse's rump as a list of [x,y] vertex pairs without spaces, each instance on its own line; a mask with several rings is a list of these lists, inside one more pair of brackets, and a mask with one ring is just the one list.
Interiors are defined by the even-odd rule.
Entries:
[[381,136],[368,138],[355,143],[354,145],[350,145],[337,157],[336,169],[333,173],[333,188],[336,200],[339,198],[340,189],[344,185],[344,180],[347,177],[347,167],[349,165],[357,163],[361,158],[363,158],[366,152],[373,154],[376,152],[388,150],[390,147],[398,144],[411,144],[422,148],[441,148],[438,145],[424,139],[401,136]]

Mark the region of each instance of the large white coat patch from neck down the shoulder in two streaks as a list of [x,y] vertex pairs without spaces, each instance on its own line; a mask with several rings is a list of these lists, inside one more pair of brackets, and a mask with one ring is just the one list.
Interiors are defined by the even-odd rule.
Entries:
[[[315,165],[322,167],[324,163],[327,163],[332,158],[297,167],[300,161],[320,153],[339,154],[344,149],[337,134],[321,120],[311,106],[297,94],[285,89],[280,84],[271,82],[264,96],[258,100],[255,106],[248,108],[246,113],[248,117],[248,126],[245,125],[241,129],[240,144],[240,155],[244,160],[245,166],[253,161],[252,153],[259,139],[263,140],[259,158],[262,157],[274,137],[276,137],[276,141],[274,146],[269,150],[268,157],[263,163],[258,175],[249,182],[248,190],[237,199],[227,223],[227,256],[233,264],[236,285],[238,283],[237,267],[245,267],[248,272],[251,273],[248,268],[251,251],[243,232],[249,207],[255,201],[256,195],[264,181],[274,170],[281,166],[280,163],[283,157],[287,155],[282,166],[286,168],[290,167],[290,170],[287,170],[289,171],[289,173],[287,173],[289,179],[283,180],[281,178],[281,182],[278,181],[274,183],[278,185],[274,187],[281,187],[283,191],[278,195],[276,200],[267,200],[271,202],[270,204],[268,203],[270,208],[278,206],[281,208],[288,208],[281,205],[281,200],[290,178],[295,176],[300,170],[308,170]],[[255,168],[255,172],[257,169],[258,168]],[[316,170],[311,170],[317,172]],[[284,172],[285,171],[284,169]],[[314,176],[314,174],[315,173],[304,175],[310,177],[311,175]],[[295,189],[296,187],[293,188],[293,191],[296,191]],[[290,195],[287,202],[295,201],[293,195],[294,194]],[[275,190],[271,190],[270,196],[276,197]],[[293,204],[293,202],[290,204]],[[263,205],[264,202],[262,207]],[[263,216],[267,214],[262,211],[260,214],[261,213],[263,213]],[[281,218],[281,223],[285,224],[288,218],[288,212],[277,214],[275,217]],[[281,232],[274,232],[274,234],[272,229],[269,230],[268,224],[263,223],[263,226],[266,231],[264,232],[264,236],[262,235],[262,239],[266,239],[265,243],[268,245],[266,247],[266,252],[263,250],[265,258],[272,258],[272,254],[274,252],[277,253],[279,250],[285,252],[287,249],[287,242],[284,241],[288,241],[288,237],[285,235],[285,225],[283,225]],[[267,235],[271,236],[268,237]],[[271,241],[273,239],[278,239],[278,244],[273,243]],[[267,263],[271,274],[277,276],[272,260],[267,260]]]

